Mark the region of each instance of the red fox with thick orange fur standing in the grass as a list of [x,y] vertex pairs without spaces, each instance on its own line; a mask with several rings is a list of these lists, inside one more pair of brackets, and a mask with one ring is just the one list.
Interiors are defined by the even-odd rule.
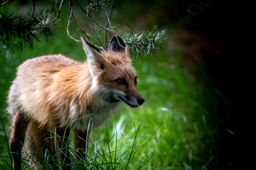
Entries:
[[121,37],[113,36],[108,51],[81,41],[85,62],[58,54],[28,59],[18,67],[7,100],[14,169],[21,169],[23,150],[39,163],[44,151],[59,153],[71,130],[75,150],[84,155],[89,126],[100,126],[121,101],[131,108],[144,103]]

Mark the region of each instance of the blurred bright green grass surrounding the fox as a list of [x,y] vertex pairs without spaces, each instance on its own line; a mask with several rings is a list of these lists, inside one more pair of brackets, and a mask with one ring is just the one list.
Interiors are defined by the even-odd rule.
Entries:
[[[31,49],[0,57],[0,169],[11,169],[5,108],[16,67],[27,58],[54,53],[85,59],[81,44],[69,39],[65,25],[56,30],[52,42],[36,42]],[[216,89],[203,67],[197,74],[186,69],[183,48],[172,29],[167,28],[167,33],[166,51],[155,58],[133,59],[145,103],[136,109],[123,105],[94,129],[89,134],[88,158],[81,164],[92,169],[208,169],[217,163]]]

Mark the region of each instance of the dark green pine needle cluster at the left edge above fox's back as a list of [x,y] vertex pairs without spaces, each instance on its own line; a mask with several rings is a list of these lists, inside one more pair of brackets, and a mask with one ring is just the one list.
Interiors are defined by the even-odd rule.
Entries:
[[[32,46],[33,41],[44,38],[52,40],[51,25],[45,25],[51,20],[51,15],[45,12],[38,18],[24,18],[22,15],[0,15],[0,41],[6,49],[19,49]],[[2,47],[3,48],[3,47]]]

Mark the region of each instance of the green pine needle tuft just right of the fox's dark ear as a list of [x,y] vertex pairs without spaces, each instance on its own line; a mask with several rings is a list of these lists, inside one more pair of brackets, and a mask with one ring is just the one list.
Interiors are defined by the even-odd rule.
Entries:
[[158,31],[158,25],[154,25],[151,31],[137,33],[125,33],[122,39],[129,46],[130,54],[135,57],[144,55],[155,56],[156,50],[163,50],[166,46],[166,30]]

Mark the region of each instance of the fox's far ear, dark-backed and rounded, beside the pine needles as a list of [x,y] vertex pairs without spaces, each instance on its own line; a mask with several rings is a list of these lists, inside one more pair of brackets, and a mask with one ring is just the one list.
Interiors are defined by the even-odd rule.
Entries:
[[109,52],[126,52],[126,44],[121,37],[113,36],[109,42]]

